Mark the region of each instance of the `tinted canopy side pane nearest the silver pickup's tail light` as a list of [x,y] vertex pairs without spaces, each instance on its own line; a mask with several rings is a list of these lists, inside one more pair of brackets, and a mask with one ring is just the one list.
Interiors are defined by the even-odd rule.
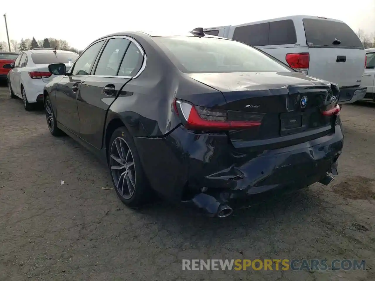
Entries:
[[291,19],[270,22],[269,45],[296,44],[297,35]]

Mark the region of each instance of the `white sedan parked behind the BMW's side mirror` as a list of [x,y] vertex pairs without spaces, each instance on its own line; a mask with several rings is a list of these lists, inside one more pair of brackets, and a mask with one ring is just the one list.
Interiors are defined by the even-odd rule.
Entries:
[[24,108],[29,111],[37,102],[43,103],[43,87],[57,75],[48,70],[48,65],[65,63],[68,70],[77,59],[75,52],[38,48],[21,52],[9,68],[7,84],[12,99],[23,99]]

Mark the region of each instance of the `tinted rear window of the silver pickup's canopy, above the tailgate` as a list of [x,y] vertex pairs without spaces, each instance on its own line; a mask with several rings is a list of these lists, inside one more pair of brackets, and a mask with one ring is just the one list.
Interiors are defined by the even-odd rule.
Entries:
[[[356,33],[344,22],[305,18],[303,26],[307,45],[363,48]],[[336,39],[341,43],[337,44]]]

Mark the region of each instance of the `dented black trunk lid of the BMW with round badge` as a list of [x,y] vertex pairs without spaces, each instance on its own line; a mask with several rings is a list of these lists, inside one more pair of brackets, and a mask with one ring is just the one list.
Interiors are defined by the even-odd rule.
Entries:
[[[327,134],[332,117],[321,109],[336,101],[338,90],[330,82],[298,72],[194,73],[189,74],[220,91],[226,110],[264,114],[260,127],[229,131],[236,147],[306,141]],[[333,88],[333,89],[332,89]],[[314,139],[314,138],[313,138]]]

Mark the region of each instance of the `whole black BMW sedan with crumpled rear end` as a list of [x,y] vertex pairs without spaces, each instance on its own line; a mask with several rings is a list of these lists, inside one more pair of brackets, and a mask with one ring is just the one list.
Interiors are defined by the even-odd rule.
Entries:
[[239,200],[337,175],[344,132],[337,85],[243,43],[121,32],[89,45],[44,88],[49,131],[108,165],[123,203],[154,191],[226,217]]

